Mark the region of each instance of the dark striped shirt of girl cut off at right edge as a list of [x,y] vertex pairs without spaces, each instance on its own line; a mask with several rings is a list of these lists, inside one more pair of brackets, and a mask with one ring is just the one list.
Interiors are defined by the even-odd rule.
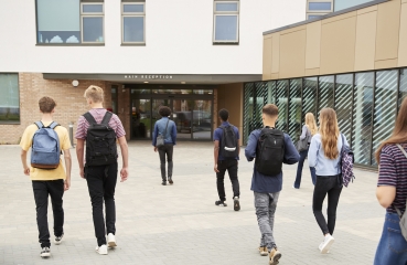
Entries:
[[[407,151],[407,144],[401,145]],[[396,198],[387,212],[396,213],[406,210],[407,199],[407,158],[396,145],[387,145],[382,149],[377,186],[396,187]]]

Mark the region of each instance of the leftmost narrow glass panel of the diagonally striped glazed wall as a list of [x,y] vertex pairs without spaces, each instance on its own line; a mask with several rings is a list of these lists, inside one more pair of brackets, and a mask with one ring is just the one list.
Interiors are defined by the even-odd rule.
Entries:
[[244,102],[243,102],[243,141],[247,144],[248,136],[250,135],[254,127],[251,125],[253,120],[253,100],[255,93],[255,84],[246,83],[244,91]]

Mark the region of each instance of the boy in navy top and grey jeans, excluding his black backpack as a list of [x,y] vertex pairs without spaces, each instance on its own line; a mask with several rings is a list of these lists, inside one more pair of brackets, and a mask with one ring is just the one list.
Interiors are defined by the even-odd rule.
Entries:
[[[263,125],[274,129],[278,118],[278,107],[274,104],[267,104],[261,110]],[[245,155],[248,161],[256,158],[256,149],[261,129],[251,131]],[[298,153],[289,135],[285,134],[285,155],[283,163],[293,165],[298,162]],[[277,176],[265,176],[254,169],[251,179],[251,190],[255,194],[255,208],[258,226],[261,232],[259,252],[261,256],[269,256],[269,264],[276,265],[281,258],[281,253],[277,250],[272,229],[275,223],[275,213],[278,198],[282,189],[282,172]]]

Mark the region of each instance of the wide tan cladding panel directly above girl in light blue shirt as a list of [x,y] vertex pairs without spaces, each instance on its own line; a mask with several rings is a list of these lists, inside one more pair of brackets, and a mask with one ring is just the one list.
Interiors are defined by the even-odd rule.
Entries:
[[[322,23],[320,74],[352,72],[355,64],[356,12]],[[342,17],[342,15],[338,15]]]

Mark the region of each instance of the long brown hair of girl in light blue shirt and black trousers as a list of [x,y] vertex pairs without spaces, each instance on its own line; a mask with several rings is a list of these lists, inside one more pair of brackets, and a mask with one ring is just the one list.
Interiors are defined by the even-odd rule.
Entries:
[[322,108],[320,113],[320,134],[325,157],[329,159],[338,158],[338,137],[340,132],[336,113],[332,108]]

